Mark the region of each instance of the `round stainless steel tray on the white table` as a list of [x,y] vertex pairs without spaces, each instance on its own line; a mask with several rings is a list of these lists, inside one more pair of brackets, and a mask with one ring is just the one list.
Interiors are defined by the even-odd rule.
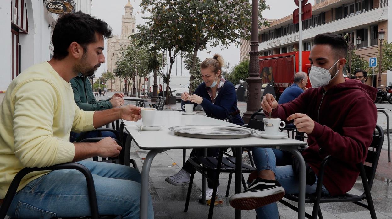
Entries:
[[256,133],[253,129],[241,126],[188,125],[170,127],[174,134],[191,138],[246,138]]

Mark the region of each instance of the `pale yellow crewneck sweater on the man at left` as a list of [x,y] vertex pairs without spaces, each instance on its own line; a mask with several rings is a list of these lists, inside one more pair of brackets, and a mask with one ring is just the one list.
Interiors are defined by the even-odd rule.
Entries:
[[[71,84],[47,63],[27,68],[9,85],[0,105],[0,199],[24,167],[71,162],[71,129],[93,130],[94,111],[76,106]],[[18,190],[49,171],[25,176]]]

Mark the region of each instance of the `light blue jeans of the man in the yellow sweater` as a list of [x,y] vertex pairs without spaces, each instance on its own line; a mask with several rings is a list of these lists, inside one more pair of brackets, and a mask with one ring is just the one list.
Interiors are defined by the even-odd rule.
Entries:
[[[132,167],[80,161],[94,178],[100,215],[139,218],[140,173]],[[151,197],[148,217],[154,218]],[[56,170],[18,191],[7,215],[15,218],[82,217],[91,215],[86,180],[76,170]]]

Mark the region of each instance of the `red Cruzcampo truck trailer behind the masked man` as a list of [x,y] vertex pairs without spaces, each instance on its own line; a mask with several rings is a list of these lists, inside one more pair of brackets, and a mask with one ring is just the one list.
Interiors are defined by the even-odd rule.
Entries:
[[[302,71],[309,75],[310,51],[302,52]],[[276,93],[276,99],[279,99],[283,90],[290,86],[294,81],[294,75],[298,72],[299,52],[287,52],[271,56],[260,56],[260,78],[263,80],[262,88],[267,84],[272,84]],[[308,79],[308,85],[310,82]]]

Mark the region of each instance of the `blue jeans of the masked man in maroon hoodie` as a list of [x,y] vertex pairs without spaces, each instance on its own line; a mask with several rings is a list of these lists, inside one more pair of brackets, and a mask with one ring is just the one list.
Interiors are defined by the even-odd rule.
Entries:
[[[257,171],[270,170],[275,173],[275,179],[282,185],[285,191],[289,194],[298,194],[299,181],[298,176],[294,174],[292,169],[291,154],[285,151],[271,148],[256,147],[252,149],[254,164]],[[306,185],[306,193],[315,193],[316,183],[312,186]],[[325,186],[322,188],[322,193],[329,195]],[[259,219],[278,219],[279,212],[276,203],[264,205],[256,209],[256,214]]]

